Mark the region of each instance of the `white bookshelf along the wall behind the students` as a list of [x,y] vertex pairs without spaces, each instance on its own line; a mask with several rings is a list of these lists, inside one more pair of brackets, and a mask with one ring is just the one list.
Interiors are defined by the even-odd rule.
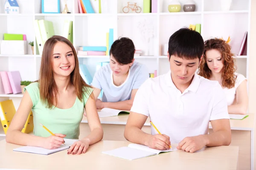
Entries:
[[[238,54],[241,41],[245,31],[248,31],[247,54],[236,56],[237,72],[248,78],[249,65],[249,42],[250,42],[250,4],[251,0],[233,0],[230,11],[221,11],[221,0],[194,0],[195,12],[183,12],[183,3],[179,0],[182,8],[180,12],[170,13],[168,4],[170,0],[158,0],[157,13],[142,13],[143,0],[133,0],[137,6],[142,8],[141,13],[122,12],[128,0],[110,0],[106,7],[107,13],[102,14],[79,14],[77,0],[67,0],[68,9],[71,14],[41,14],[41,0],[17,0],[20,6],[20,14],[4,14],[3,4],[0,0],[0,40],[4,33],[26,34],[27,41],[34,41],[34,55],[28,45],[27,55],[0,55],[0,71],[20,71],[22,80],[35,81],[39,77],[41,55],[36,47],[36,39],[33,28],[35,19],[52,21],[56,35],[61,35],[64,20],[73,21],[73,45],[76,49],[80,45],[106,45],[106,33],[109,28],[114,30],[114,40],[118,37],[129,37],[133,40],[135,47],[145,51],[145,56],[135,56],[135,61],[148,66],[150,73],[157,70],[157,75],[169,71],[167,56],[163,56],[162,46],[168,43],[169,37],[184,26],[190,24],[201,24],[201,35],[204,40],[210,37],[223,37],[227,40],[231,37],[230,45],[232,52]],[[61,11],[64,8],[64,0],[61,0]],[[104,8],[102,6],[102,8]],[[153,28],[154,37],[149,44],[143,41],[138,29],[138,23],[145,22],[146,28]],[[93,76],[96,71],[97,62],[109,61],[109,56],[78,56],[79,62],[86,64]],[[0,100],[17,100],[15,108],[19,105],[22,94],[0,94]]]

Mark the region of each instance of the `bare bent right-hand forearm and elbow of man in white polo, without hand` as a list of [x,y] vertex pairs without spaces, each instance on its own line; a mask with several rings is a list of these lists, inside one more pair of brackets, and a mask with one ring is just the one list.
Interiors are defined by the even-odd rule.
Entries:
[[231,130],[229,119],[218,119],[211,121],[213,132],[204,135],[206,146],[221,146],[231,143]]

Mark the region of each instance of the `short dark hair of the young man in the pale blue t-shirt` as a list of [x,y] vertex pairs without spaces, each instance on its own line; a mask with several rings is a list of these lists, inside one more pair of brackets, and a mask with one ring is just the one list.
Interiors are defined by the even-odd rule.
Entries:
[[127,37],[122,37],[113,42],[109,54],[112,54],[120,64],[129,64],[134,59],[134,52],[135,47],[132,40]]

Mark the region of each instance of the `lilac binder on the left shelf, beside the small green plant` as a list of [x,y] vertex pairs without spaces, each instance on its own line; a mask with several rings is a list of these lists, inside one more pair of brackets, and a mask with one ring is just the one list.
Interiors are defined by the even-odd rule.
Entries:
[[9,81],[12,87],[13,94],[21,93],[20,88],[20,72],[19,71],[8,71],[7,72]]

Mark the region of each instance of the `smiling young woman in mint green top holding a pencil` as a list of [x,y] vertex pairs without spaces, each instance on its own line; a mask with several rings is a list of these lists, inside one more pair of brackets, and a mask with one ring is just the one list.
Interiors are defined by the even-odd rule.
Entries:
[[[79,61],[72,43],[53,36],[44,45],[39,79],[24,88],[25,94],[6,133],[6,142],[55,149],[64,138],[78,139],[84,109],[90,134],[75,142],[67,154],[85,153],[89,145],[103,137],[93,89],[79,73]],[[21,130],[32,110],[34,135]],[[40,124],[47,127],[51,135]]]

